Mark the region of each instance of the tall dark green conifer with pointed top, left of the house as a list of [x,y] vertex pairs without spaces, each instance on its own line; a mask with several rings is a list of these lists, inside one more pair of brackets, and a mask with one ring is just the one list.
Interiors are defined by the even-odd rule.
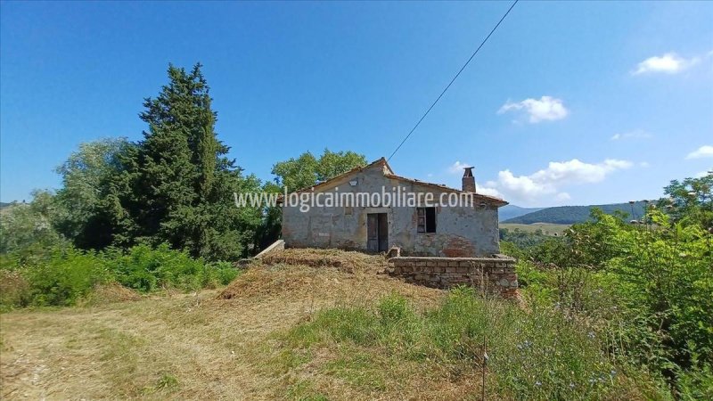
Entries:
[[168,80],[143,103],[148,131],[115,181],[129,216],[118,243],[168,242],[196,257],[239,258],[253,244],[260,210],[235,208],[233,192],[258,191],[259,181],[225,157],[201,64],[170,65]]

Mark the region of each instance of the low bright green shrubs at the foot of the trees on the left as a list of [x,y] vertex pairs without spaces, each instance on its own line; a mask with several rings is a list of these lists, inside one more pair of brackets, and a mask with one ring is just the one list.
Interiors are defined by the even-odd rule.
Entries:
[[4,258],[0,306],[71,306],[99,284],[119,282],[136,291],[196,291],[232,282],[239,271],[227,262],[205,263],[167,244],[127,251],[54,247],[38,258]]

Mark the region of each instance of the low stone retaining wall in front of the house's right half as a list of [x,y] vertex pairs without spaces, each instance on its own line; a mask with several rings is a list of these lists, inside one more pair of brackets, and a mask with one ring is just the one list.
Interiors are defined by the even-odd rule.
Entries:
[[414,258],[389,259],[389,274],[406,282],[434,288],[471,285],[504,299],[515,297],[518,277],[515,259],[504,255],[493,258]]

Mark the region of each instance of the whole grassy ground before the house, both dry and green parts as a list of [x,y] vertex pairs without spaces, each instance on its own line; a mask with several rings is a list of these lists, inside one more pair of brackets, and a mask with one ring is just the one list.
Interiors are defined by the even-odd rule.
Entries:
[[0,315],[0,397],[479,399],[483,337],[488,397],[659,396],[584,323],[409,285],[365,261],[275,260],[222,291]]

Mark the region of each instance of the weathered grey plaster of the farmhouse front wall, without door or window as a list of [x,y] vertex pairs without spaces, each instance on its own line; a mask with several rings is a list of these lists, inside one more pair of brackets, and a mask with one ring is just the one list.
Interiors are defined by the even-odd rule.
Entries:
[[[408,192],[454,192],[447,187],[414,183],[395,178],[388,166],[372,164],[327,184],[313,192],[381,192],[381,187],[401,186]],[[356,186],[349,181],[357,181]],[[366,215],[386,213],[389,222],[389,247],[397,246],[403,255],[439,257],[489,256],[500,252],[497,208],[502,201],[477,201],[473,206],[438,207],[436,233],[416,232],[416,209],[409,207],[354,208],[345,215],[343,207],[312,208],[283,206],[283,240],[288,247],[341,248],[366,250]],[[482,204],[481,204],[482,203]],[[423,206],[423,205],[422,205]]]

